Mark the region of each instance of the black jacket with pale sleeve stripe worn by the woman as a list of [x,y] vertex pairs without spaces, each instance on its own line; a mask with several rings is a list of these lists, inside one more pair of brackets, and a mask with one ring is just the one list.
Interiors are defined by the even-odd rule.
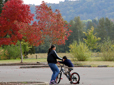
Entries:
[[52,50],[47,57],[48,63],[57,63],[57,59],[62,60],[57,54],[56,51]]

